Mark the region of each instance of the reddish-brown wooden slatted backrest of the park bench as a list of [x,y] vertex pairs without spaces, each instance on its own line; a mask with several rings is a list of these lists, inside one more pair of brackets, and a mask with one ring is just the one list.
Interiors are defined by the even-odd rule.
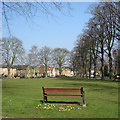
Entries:
[[66,95],[80,95],[83,88],[44,88],[44,94],[66,94]]

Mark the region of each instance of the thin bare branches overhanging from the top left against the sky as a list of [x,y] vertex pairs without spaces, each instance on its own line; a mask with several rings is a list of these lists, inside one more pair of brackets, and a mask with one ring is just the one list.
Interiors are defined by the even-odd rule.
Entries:
[[56,11],[67,14],[70,9],[69,3],[62,2],[2,2],[2,15],[10,34],[9,22],[15,15],[22,16],[27,21],[30,21],[35,16],[40,17],[41,15],[46,15],[46,17],[53,17]]

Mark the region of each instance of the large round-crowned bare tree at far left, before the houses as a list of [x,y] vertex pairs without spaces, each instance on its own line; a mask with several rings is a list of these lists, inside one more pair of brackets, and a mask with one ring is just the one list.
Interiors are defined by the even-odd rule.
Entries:
[[13,67],[15,60],[21,58],[24,53],[22,41],[16,37],[2,39],[2,62],[7,65],[8,76],[10,68]]

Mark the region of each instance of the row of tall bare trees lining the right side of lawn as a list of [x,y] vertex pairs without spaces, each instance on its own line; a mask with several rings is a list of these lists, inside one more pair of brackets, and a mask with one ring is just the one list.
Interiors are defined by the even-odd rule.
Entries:
[[101,79],[104,79],[104,63],[107,55],[109,58],[109,77],[112,78],[112,50],[116,39],[119,39],[118,33],[120,31],[118,5],[114,2],[99,3],[90,8],[93,17],[87,23],[84,34],[79,36],[72,54],[74,70],[81,77],[86,73],[84,69],[89,72],[89,77],[91,77],[93,66],[95,77],[97,61],[100,58]]

